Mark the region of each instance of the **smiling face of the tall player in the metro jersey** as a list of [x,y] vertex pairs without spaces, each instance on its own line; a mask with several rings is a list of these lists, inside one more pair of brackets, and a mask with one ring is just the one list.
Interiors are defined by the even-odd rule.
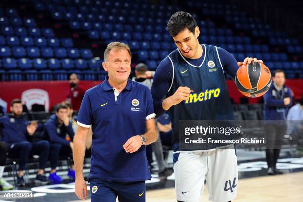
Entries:
[[178,49],[186,58],[198,58],[198,36],[199,36],[199,27],[195,28],[195,33],[192,33],[189,29],[184,29],[175,37],[173,37],[175,44]]

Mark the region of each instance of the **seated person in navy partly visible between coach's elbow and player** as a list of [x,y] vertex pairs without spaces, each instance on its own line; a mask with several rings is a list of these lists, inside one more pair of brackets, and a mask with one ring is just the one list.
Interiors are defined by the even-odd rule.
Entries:
[[160,131],[160,138],[162,141],[162,145],[169,146],[171,148],[171,121],[169,115],[167,113],[163,114],[161,117],[157,119],[157,126]]

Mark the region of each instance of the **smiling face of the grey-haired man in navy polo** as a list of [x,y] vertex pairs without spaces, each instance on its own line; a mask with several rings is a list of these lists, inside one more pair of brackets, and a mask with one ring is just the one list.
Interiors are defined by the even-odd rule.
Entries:
[[112,49],[103,62],[103,68],[108,72],[109,80],[115,83],[127,82],[131,71],[131,56],[126,49]]

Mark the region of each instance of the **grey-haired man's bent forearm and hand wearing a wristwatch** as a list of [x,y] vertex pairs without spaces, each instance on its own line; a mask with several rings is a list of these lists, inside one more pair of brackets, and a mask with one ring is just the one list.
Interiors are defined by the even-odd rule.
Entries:
[[[146,133],[142,135],[146,139],[145,145],[149,145],[158,139],[158,133],[155,127],[154,118],[146,120]],[[127,153],[134,153],[142,146],[141,137],[139,135],[129,138],[123,145]]]

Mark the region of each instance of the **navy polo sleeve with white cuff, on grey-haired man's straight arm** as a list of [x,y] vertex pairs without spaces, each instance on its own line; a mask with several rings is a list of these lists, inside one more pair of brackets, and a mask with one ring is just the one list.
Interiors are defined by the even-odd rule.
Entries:
[[77,116],[79,126],[90,128],[92,126],[92,106],[88,93],[84,94],[79,113]]

